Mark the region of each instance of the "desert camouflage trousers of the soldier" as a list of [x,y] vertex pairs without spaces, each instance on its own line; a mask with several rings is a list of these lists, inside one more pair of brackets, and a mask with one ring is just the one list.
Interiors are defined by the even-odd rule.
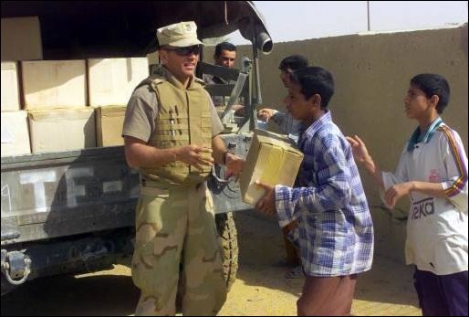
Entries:
[[226,299],[214,202],[205,183],[141,187],[132,279],[141,289],[135,315],[216,315]]

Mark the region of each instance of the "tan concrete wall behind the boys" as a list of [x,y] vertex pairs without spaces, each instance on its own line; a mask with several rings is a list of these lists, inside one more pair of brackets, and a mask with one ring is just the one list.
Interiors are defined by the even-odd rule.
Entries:
[[[251,56],[251,48],[238,48],[238,56]],[[286,89],[279,79],[278,64],[291,54],[307,56],[310,64],[328,69],[336,93],[329,109],[344,134],[358,134],[367,143],[383,170],[394,170],[402,147],[416,128],[407,119],[403,98],[413,75],[438,73],[448,79],[451,100],[443,121],[458,131],[467,153],[467,24],[454,28],[376,35],[328,37],[276,43],[261,58],[263,103],[284,110]],[[213,50],[204,59],[212,60]],[[361,170],[376,232],[376,252],[403,260],[405,218],[408,205],[402,199],[391,216],[381,207],[376,185]]]

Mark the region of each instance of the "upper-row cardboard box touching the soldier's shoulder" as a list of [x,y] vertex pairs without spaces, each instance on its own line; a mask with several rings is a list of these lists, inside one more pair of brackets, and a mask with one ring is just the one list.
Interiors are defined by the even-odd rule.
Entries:
[[130,96],[149,75],[148,58],[88,59],[89,105],[127,105]]

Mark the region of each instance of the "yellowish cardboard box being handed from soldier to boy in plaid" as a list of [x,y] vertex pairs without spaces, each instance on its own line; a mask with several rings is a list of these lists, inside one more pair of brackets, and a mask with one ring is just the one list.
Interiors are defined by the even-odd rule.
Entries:
[[266,185],[293,186],[302,161],[303,153],[286,135],[255,130],[239,179],[243,201],[255,205],[265,194],[255,185],[257,180]]

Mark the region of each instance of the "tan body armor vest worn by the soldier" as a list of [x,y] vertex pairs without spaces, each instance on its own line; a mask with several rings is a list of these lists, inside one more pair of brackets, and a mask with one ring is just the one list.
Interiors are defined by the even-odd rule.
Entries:
[[[182,90],[171,80],[154,75],[141,82],[139,87],[150,85],[158,100],[155,131],[151,133],[149,145],[158,149],[194,144],[212,148],[212,109],[209,96],[203,86],[195,81]],[[206,153],[212,155],[211,153]],[[203,171],[183,162],[173,162],[156,168],[141,168],[144,179],[162,185],[193,185],[202,183],[211,171]]]

